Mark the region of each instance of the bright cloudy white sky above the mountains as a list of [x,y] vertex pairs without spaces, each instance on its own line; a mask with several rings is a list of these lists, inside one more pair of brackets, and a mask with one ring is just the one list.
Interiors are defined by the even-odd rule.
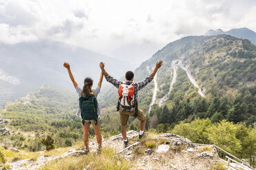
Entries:
[[183,36],[248,27],[255,0],[0,0],[0,42],[58,40],[134,64]]

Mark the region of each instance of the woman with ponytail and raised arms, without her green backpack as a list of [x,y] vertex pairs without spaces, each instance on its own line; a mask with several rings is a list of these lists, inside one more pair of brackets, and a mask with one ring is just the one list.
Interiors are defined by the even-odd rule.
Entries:
[[[100,73],[100,80],[98,81],[98,86],[97,86],[97,88],[95,90],[92,90],[93,80],[92,80],[91,77],[86,77],[85,78],[83,89],[81,89],[78,86],[76,80],[74,80],[74,77],[73,77],[72,72],[70,70],[70,64],[68,64],[67,62],[64,62],[63,66],[65,66],[65,68],[67,68],[68,74],[70,75],[70,79],[72,80],[72,82],[74,84],[74,88],[76,88],[76,92],[78,93],[79,97],[81,97],[81,95],[83,95],[83,94],[85,94],[86,96],[94,95],[95,97],[98,97],[98,94],[100,93],[100,87],[101,87],[101,84],[103,82],[103,72],[102,71]],[[80,108],[78,109],[77,114],[81,115]],[[98,149],[101,148],[102,136],[100,134],[100,106],[99,106],[99,104],[98,104],[97,114],[98,114],[97,121],[94,121],[94,120],[82,120],[82,125],[83,125],[83,143],[85,144],[84,150],[86,151],[86,153],[89,152],[89,125],[91,123],[94,126],[94,132],[96,134],[96,139],[97,139],[97,143],[98,143]]]

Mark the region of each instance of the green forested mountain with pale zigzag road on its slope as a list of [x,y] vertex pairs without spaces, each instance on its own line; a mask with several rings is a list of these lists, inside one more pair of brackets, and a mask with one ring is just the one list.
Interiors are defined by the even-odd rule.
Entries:
[[[248,125],[256,121],[256,47],[249,40],[228,35],[181,38],[142,62],[134,73],[135,82],[149,76],[159,60],[164,65],[156,82],[138,94],[139,108],[151,118],[155,115],[158,123],[196,117],[247,121]],[[116,106],[116,88],[109,86],[101,93],[103,108]]]

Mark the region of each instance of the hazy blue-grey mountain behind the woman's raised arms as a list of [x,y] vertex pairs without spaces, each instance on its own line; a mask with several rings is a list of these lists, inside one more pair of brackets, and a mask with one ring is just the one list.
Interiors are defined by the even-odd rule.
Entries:
[[129,69],[125,62],[62,42],[39,40],[16,45],[0,44],[0,106],[36,90],[42,84],[72,88],[63,67],[65,61],[70,62],[74,77],[81,86],[87,76],[98,81],[100,61],[105,62],[109,72],[118,77]]

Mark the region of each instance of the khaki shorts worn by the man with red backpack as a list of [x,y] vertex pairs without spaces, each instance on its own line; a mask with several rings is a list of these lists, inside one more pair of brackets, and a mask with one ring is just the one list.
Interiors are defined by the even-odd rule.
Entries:
[[[132,111],[132,112],[129,112],[129,111],[126,111],[126,110],[122,110],[122,109],[120,108],[119,114],[120,114],[120,124],[121,124],[122,126],[124,126],[124,125],[127,125],[129,116],[131,116],[131,117],[134,117],[134,116],[135,116],[135,110]],[[139,121],[144,121],[144,119],[145,119],[145,113],[144,113],[142,110],[138,109],[138,115],[137,115],[136,118],[137,118]]]

